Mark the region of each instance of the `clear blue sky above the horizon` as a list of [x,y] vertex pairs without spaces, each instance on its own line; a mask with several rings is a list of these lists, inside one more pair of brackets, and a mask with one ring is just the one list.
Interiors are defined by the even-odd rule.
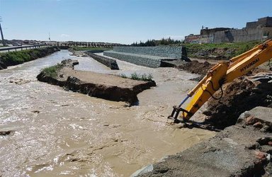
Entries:
[[243,28],[272,16],[272,0],[0,0],[8,40],[120,42]]

